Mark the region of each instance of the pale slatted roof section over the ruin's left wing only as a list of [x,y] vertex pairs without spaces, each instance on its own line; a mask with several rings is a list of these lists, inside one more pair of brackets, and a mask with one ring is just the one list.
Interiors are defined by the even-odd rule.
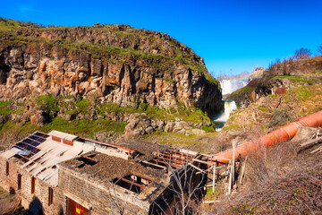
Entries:
[[[67,159],[77,157],[83,152],[81,147],[72,147],[61,142],[55,142],[50,135],[55,135],[68,141],[77,136],[52,131],[50,133],[32,133],[21,142],[17,142],[11,149],[0,154],[4,159],[21,159],[21,168],[24,168],[32,176],[47,182],[49,185],[58,185],[58,169],[55,165]],[[28,150],[27,150],[28,149]],[[33,151],[33,152],[31,152]],[[86,152],[88,150],[85,150]]]

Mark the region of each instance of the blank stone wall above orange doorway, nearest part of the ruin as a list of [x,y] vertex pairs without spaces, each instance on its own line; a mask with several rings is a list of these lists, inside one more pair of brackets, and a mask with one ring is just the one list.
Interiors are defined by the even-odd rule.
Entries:
[[123,188],[118,185],[103,185],[61,166],[58,187],[61,191],[59,206],[64,209],[64,214],[67,210],[67,198],[89,209],[90,215],[120,214],[117,204],[120,208],[125,206],[124,214],[148,214],[149,203],[138,200],[137,195],[131,191],[123,193],[120,191]]

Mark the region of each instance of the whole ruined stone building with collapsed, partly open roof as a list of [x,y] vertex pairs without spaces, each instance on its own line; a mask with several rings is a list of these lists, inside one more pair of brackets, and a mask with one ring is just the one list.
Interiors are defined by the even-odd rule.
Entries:
[[[174,174],[197,153],[124,147],[52,131],[0,154],[0,186],[33,214],[159,214],[174,200]],[[148,149],[148,150],[147,150]],[[196,167],[198,168],[198,167]],[[191,175],[192,176],[192,175]],[[191,177],[192,178],[192,177]],[[194,186],[202,174],[193,174]]]

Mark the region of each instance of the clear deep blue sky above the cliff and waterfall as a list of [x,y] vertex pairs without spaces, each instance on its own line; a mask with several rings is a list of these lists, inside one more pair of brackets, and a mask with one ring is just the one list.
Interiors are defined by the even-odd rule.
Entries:
[[322,43],[321,0],[4,1],[0,16],[44,25],[124,23],[163,31],[205,60],[208,71],[267,67],[300,47]]

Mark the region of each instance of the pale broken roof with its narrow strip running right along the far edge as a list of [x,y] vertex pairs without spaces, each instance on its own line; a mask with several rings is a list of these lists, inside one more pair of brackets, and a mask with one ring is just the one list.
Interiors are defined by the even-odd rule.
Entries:
[[[68,145],[63,142],[52,140],[51,135],[72,141],[74,144]],[[29,137],[17,142],[11,149],[0,154],[4,159],[19,159],[17,162],[20,168],[30,172],[32,176],[47,182],[49,185],[58,185],[58,169],[56,164],[68,159],[78,157],[82,153],[97,150],[114,157],[128,159],[131,149],[118,147],[104,142],[96,142],[83,139],[84,142],[76,141],[78,137],[69,133],[52,131],[50,133],[35,132]],[[105,147],[105,148],[102,148]],[[124,151],[125,150],[125,151]]]

